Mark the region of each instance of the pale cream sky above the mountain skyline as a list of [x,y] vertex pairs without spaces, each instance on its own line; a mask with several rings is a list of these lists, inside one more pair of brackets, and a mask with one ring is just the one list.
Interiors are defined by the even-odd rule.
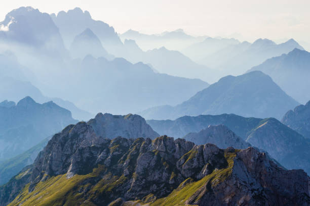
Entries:
[[196,36],[240,33],[249,41],[294,38],[310,43],[309,0],[10,0],[1,4],[0,21],[21,6],[56,14],[80,7],[118,33],[133,29],[151,34],[182,28]]

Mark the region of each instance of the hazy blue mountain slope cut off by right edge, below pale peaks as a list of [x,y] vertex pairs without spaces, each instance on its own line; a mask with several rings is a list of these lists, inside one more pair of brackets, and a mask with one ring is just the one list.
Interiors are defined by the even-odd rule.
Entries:
[[249,71],[268,74],[290,96],[305,103],[310,99],[310,53],[295,48],[288,54],[273,57]]

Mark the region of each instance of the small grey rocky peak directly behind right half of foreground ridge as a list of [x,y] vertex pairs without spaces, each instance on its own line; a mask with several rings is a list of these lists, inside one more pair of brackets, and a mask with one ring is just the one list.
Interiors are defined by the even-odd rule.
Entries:
[[203,129],[198,133],[189,133],[185,135],[184,139],[197,145],[212,143],[219,148],[227,148],[232,146],[237,149],[245,149],[251,146],[251,144],[237,136],[224,125],[209,125],[207,129]]

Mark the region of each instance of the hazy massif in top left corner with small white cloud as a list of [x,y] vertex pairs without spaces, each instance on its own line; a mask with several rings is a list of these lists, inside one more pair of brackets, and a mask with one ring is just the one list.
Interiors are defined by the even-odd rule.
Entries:
[[49,55],[55,51],[65,52],[58,28],[47,13],[32,7],[21,7],[9,12],[0,24],[7,28],[0,31],[0,41],[43,49]]

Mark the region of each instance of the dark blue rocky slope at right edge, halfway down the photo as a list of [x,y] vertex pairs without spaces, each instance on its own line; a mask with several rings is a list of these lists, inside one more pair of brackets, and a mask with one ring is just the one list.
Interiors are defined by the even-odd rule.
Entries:
[[304,137],[310,138],[310,101],[288,111],[281,122]]

